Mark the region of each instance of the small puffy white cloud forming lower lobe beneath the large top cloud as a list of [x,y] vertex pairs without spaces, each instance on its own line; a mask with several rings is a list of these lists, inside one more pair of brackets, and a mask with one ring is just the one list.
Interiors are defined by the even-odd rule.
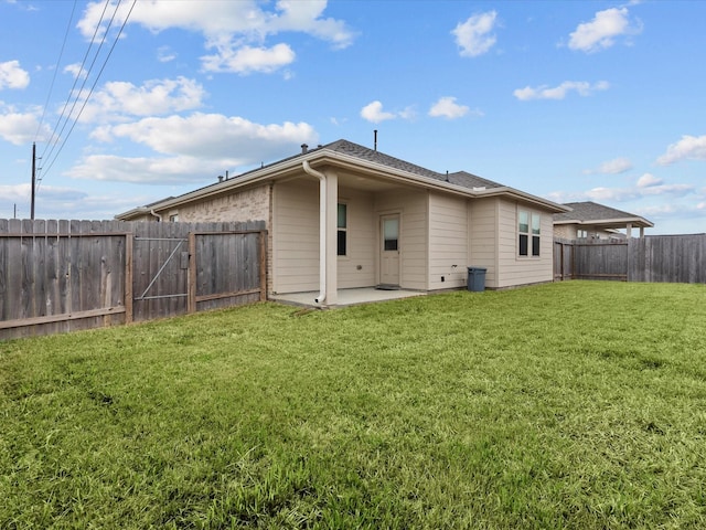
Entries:
[[295,52],[288,44],[276,44],[272,47],[243,46],[234,50],[226,45],[218,49],[215,55],[204,55],[203,67],[206,72],[233,72],[242,75],[254,72],[269,74],[293,63]]

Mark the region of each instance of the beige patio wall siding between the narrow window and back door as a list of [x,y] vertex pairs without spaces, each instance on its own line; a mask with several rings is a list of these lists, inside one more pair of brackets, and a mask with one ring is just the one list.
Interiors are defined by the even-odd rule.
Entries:
[[[372,287],[375,280],[376,219],[371,193],[339,188],[339,202],[347,210],[347,248],[338,258],[340,289]],[[360,267],[360,268],[359,268]]]

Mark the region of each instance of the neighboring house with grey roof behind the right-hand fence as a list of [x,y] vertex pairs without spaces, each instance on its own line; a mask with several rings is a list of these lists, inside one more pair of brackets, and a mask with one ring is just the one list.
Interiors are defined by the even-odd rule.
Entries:
[[564,205],[571,211],[554,214],[554,235],[565,240],[624,239],[632,236],[632,229],[640,229],[640,237],[644,237],[644,229],[654,226],[640,215],[596,202],[568,202]]

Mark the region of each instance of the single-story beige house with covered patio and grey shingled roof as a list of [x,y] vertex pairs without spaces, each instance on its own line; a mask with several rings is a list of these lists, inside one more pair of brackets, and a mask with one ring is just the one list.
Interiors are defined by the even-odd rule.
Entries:
[[265,220],[268,295],[462,288],[553,280],[553,215],[568,208],[464,171],[439,173],[338,140],[117,215],[125,221]]

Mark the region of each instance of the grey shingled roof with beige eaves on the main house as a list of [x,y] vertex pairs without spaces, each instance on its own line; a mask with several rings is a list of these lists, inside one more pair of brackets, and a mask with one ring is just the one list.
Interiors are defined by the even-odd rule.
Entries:
[[391,157],[389,155],[385,155],[376,149],[368,149],[352,141],[341,139],[324,146],[318,146],[313,149],[308,149],[307,146],[302,146],[302,151],[292,157],[278,160],[269,165],[263,165],[260,168],[246,171],[245,173],[232,177],[221,182],[208,184],[176,198],[163,199],[156,203],[130,210],[129,212],[116,215],[116,218],[128,220],[138,214],[150,212],[151,210],[178,208],[180,204],[220,194],[243,186],[271,181],[279,177],[290,177],[296,172],[301,171],[301,166],[304,160],[314,168],[333,166],[357,171],[366,171],[372,177],[386,178],[399,182],[440,189],[447,192],[474,198],[510,195],[515,199],[541,205],[553,213],[568,211],[566,206],[556,202],[483,179],[466,171],[439,173],[437,171],[422,168],[421,166],[416,166],[405,160]]

